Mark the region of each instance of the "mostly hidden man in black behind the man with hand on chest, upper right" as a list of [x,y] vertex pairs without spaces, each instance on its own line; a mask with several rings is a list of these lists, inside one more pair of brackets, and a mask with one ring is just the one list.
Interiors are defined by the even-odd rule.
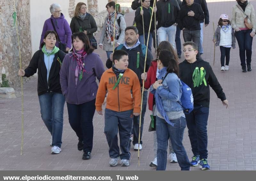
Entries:
[[[200,21],[200,44],[199,44],[199,52],[200,54],[204,53],[204,49],[203,49],[203,27],[207,27],[209,25],[209,11],[208,11],[208,7],[207,7],[207,3],[206,0],[194,0],[195,3],[200,4],[203,12],[204,12],[204,20]],[[186,0],[182,1],[182,5],[186,4]]]

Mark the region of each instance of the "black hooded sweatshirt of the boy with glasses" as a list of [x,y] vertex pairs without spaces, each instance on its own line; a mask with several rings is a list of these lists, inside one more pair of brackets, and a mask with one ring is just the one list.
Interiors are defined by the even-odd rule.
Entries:
[[[194,106],[204,106],[209,107],[210,105],[210,87],[217,94],[217,97],[221,99],[221,101],[226,100],[225,93],[223,92],[220,83],[218,82],[212,67],[209,62],[206,62],[202,59],[197,58],[194,63],[189,63],[187,60],[184,60],[179,64],[180,67],[180,80],[186,83],[192,90],[194,97]],[[204,82],[198,87],[194,87],[193,83],[193,72],[195,68],[204,67],[206,72],[205,80],[207,86],[204,85]]]

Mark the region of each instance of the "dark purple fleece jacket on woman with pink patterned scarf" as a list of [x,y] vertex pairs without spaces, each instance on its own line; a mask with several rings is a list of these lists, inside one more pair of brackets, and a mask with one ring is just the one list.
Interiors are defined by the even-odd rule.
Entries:
[[96,77],[100,82],[104,67],[100,56],[96,53],[87,55],[84,60],[84,77],[81,81],[75,83],[76,60],[72,60],[72,52],[68,53],[60,69],[60,85],[62,94],[69,104],[83,104],[96,98],[98,84]]

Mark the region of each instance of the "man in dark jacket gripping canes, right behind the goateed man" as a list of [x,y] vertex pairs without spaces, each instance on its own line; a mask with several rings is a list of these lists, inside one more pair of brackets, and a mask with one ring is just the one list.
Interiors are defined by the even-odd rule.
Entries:
[[[138,9],[135,12],[134,21],[136,22],[136,27],[139,31],[139,41],[140,43],[147,45],[148,40],[148,50],[151,51],[152,46],[152,38],[155,38],[154,30],[155,30],[155,18],[154,15],[152,17],[151,27],[149,31],[149,25],[151,20],[151,14],[156,13],[156,7],[152,8],[150,7],[149,0],[141,0],[142,1],[142,8],[138,7]],[[143,16],[143,19],[142,19]],[[142,22],[142,20],[144,22]],[[143,29],[144,24],[144,29]],[[143,34],[144,30],[144,34]],[[149,32],[149,38],[148,38],[148,32]],[[154,36],[153,36],[154,35]],[[144,42],[145,40],[145,42]]]

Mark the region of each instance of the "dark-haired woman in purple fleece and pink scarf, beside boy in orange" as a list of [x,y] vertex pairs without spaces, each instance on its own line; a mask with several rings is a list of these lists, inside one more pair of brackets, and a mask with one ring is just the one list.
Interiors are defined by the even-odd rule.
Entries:
[[104,67],[100,56],[93,53],[88,37],[83,32],[72,35],[73,48],[66,55],[60,69],[60,85],[68,106],[70,126],[78,137],[77,149],[84,151],[83,160],[92,152],[95,99]]

